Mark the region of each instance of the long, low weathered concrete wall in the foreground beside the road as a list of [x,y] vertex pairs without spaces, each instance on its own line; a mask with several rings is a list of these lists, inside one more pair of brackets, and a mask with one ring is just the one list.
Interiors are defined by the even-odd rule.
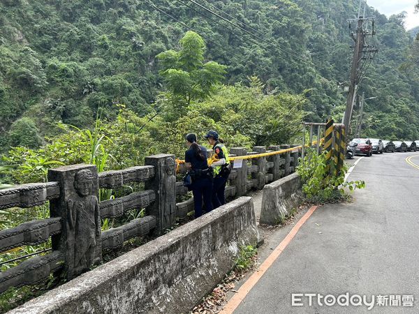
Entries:
[[251,197],[240,197],[10,313],[187,313],[258,238]]

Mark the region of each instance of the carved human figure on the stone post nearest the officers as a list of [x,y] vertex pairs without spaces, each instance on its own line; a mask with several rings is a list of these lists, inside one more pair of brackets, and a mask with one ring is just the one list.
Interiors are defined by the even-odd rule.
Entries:
[[163,214],[163,225],[165,227],[171,227],[175,223],[175,214],[176,214],[176,177],[175,177],[175,160],[172,158],[167,158],[164,165],[164,171],[166,175],[164,176],[164,208],[165,213]]

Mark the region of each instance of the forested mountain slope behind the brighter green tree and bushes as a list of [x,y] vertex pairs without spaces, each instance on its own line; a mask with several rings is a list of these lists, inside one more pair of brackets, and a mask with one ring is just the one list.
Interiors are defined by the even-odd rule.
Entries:
[[[176,48],[189,28],[207,42],[207,59],[227,66],[226,83],[257,75],[266,92],[304,93],[309,99],[307,120],[321,121],[331,114],[339,119],[346,97],[338,83],[348,81],[353,45],[346,19],[355,17],[358,1],[210,3],[260,38],[234,29],[191,1],[1,1],[3,144],[22,117],[32,119],[45,135],[55,121],[91,125],[99,106],[108,119],[118,112],[115,103],[146,114],[163,89],[156,54]],[[417,45],[412,45],[401,17],[367,13],[376,16],[380,52],[360,87],[366,97],[377,97],[367,102],[365,132],[417,139],[419,71],[412,57]]]

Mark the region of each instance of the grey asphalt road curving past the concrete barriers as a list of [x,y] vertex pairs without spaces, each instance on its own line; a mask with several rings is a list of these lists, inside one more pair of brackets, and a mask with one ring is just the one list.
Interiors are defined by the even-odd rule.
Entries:
[[[234,313],[419,313],[419,152],[362,158],[348,178],[356,179],[367,187],[355,202],[318,207]],[[374,308],[321,306],[317,296],[311,306],[305,296],[291,305],[293,293],[346,292],[368,302],[374,295]],[[412,295],[413,307],[403,306]],[[390,298],[400,306],[378,305]]]

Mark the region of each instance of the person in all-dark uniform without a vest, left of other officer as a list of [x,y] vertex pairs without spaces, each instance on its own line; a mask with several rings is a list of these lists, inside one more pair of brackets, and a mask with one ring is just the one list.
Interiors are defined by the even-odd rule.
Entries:
[[207,149],[196,143],[196,135],[186,135],[185,163],[191,175],[195,218],[202,216],[203,198],[205,210],[212,211],[212,169],[208,167]]

